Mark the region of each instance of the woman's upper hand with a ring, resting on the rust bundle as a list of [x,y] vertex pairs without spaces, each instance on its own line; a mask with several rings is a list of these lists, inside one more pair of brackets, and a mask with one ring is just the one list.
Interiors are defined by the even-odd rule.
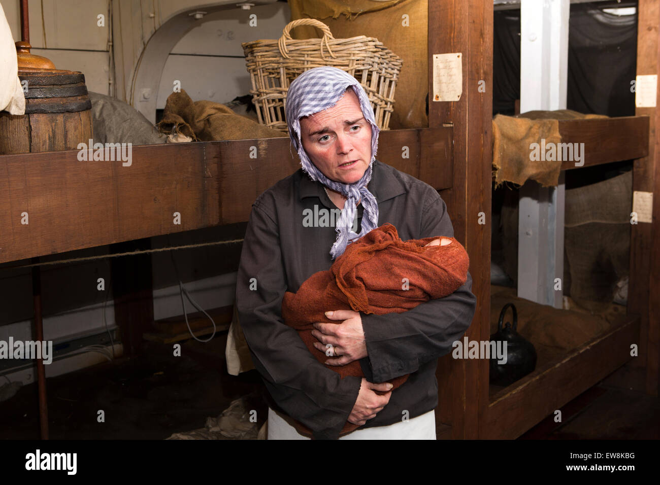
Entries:
[[[358,311],[327,311],[325,316],[331,320],[343,320],[343,322],[338,322],[341,325],[314,323],[316,330],[312,330],[312,335],[321,342],[314,342],[315,348],[325,352],[327,356],[339,356],[339,358],[326,360],[326,364],[344,366],[368,355],[367,345],[364,341],[364,329],[362,329],[362,317]],[[330,351],[330,346],[332,346],[332,351]]]

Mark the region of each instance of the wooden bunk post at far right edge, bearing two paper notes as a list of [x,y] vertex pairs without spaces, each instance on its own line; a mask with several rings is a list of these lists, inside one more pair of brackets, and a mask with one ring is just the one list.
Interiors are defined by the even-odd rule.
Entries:
[[[657,0],[640,0],[637,26],[637,75],[657,75],[660,67],[660,6]],[[626,387],[634,387],[650,395],[659,392],[659,319],[660,284],[660,132],[657,108],[636,108],[636,115],[649,116],[649,154],[635,160],[633,191],[655,192],[653,195],[653,222],[631,225],[630,276],[628,285],[628,313],[640,315],[639,355],[630,364],[612,376],[623,379]],[[655,189],[655,190],[654,190]],[[650,264],[649,264],[650,263]],[[632,342],[631,342],[632,343]],[[644,373],[644,368],[646,372]],[[637,377],[637,378],[636,378]]]

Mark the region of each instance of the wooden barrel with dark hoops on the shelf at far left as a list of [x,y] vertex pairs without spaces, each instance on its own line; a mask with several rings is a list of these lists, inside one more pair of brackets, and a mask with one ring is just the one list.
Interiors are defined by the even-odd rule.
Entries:
[[77,149],[93,138],[92,102],[77,71],[20,69],[25,114],[0,112],[0,154]]

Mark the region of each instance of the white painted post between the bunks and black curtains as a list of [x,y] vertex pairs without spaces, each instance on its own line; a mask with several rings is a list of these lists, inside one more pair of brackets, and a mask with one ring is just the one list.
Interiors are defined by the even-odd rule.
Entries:
[[[520,112],[566,109],[570,0],[521,0]],[[564,172],[557,187],[520,187],[518,296],[562,307]],[[555,290],[560,278],[561,290]]]

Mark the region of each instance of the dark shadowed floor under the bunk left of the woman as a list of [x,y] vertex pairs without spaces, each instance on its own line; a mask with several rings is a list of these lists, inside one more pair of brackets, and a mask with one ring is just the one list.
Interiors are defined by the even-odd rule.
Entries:
[[[50,439],[165,439],[204,428],[207,417],[263,387],[255,372],[226,372],[225,344],[226,332],[209,343],[187,340],[182,356],[174,357],[172,344],[145,342],[139,358],[49,378]],[[256,408],[261,426],[267,408]],[[0,403],[0,439],[39,439],[38,413],[36,384],[23,386]]]

